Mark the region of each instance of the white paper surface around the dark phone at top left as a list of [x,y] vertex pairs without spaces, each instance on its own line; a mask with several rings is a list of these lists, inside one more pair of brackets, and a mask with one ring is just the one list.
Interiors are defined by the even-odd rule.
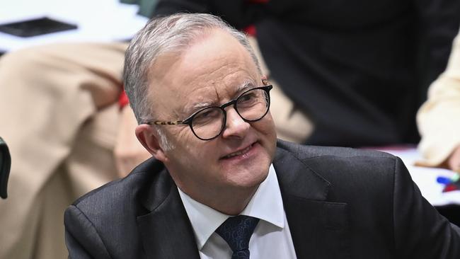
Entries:
[[147,21],[137,15],[137,5],[121,4],[118,0],[0,0],[0,6],[0,23],[47,16],[78,26],[76,30],[30,38],[0,33],[3,51],[54,42],[128,40]]

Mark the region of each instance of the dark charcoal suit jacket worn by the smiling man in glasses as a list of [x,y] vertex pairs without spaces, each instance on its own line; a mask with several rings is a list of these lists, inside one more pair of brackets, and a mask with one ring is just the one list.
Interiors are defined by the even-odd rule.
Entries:
[[[278,142],[273,161],[297,258],[460,258],[460,230],[400,159]],[[70,258],[199,258],[176,185],[150,159],[65,212]]]

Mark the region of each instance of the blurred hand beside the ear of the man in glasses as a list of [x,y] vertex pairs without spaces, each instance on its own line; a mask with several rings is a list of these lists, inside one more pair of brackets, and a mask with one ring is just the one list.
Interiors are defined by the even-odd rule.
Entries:
[[118,173],[120,177],[125,177],[139,163],[149,159],[151,154],[144,149],[134,134],[137,121],[130,105],[126,105],[121,113],[120,129],[113,152]]

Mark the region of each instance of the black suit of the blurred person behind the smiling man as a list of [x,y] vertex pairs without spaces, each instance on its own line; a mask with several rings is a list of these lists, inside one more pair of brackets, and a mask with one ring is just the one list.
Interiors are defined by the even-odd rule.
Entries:
[[460,25],[459,0],[159,0],[154,15],[177,11],[255,25],[272,78],[315,124],[306,144],[326,146],[417,143]]

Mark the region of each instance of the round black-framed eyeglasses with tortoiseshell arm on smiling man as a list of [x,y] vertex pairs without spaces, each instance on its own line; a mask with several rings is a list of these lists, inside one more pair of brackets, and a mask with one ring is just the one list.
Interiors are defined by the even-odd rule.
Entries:
[[220,106],[209,106],[193,113],[185,120],[170,122],[150,121],[149,125],[188,125],[198,139],[211,140],[218,137],[226,125],[226,110],[230,105],[234,106],[236,113],[245,122],[261,120],[270,109],[270,90],[272,85],[252,88],[241,93],[238,98]]

